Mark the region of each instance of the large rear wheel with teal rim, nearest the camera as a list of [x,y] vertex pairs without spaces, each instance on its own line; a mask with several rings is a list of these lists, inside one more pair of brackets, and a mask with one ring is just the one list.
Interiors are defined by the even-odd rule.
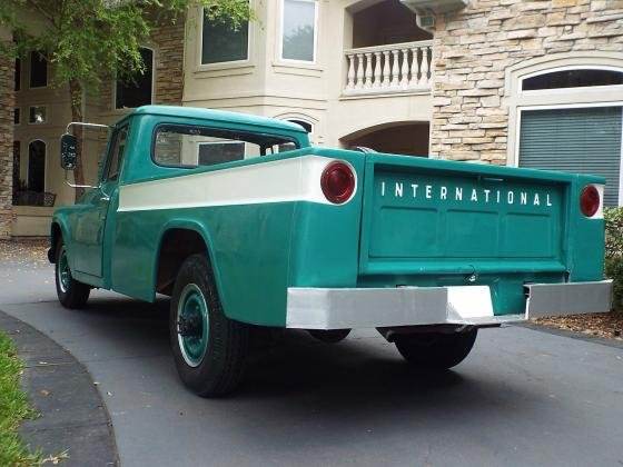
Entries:
[[190,256],[179,269],[171,297],[169,335],[179,377],[195,394],[224,396],[239,384],[249,326],[225,316],[206,255]]

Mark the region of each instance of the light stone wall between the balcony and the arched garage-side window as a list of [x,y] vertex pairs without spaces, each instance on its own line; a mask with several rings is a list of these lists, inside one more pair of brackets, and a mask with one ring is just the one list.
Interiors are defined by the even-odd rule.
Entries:
[[623,52],[623,0],[471,0],[437,18],[431,156],[506,162],[505,70],[572,51]]

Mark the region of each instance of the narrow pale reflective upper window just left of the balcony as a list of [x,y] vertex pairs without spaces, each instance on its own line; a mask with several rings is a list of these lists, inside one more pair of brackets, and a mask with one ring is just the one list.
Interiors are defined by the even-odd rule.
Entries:
[[316,0],[284,0],[281,59],[316,61]]

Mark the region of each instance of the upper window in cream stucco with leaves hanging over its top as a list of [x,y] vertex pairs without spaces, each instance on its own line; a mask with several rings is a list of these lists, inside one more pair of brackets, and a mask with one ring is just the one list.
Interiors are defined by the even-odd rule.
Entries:
[[204,11],[201,28],[201,64],[244,61],[249,58],[249,23],[238,28],[231,23],[209,19]]

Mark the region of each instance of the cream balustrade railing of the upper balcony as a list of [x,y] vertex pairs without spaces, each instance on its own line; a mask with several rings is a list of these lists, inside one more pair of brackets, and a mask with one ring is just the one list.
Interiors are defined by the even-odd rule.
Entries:
[[429,91],[433,41],[389,43],[344,51],[345,96]]

